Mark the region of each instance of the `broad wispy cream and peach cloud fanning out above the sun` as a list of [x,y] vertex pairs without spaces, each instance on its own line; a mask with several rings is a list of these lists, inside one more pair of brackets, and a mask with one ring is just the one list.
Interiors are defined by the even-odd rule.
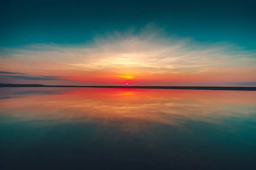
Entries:
[[0,59],[4,65],[0,69],[17,71],[20,68],[40,74],[46,71],[55,74],[68,72],[77,77],[83,77],[82,74],[86,73],[86,77],[102,78],[107,72],[116,73],[116,77],[121,73],[127,76],[155,75],[155,78],[159,75],[172,77],[174,74],[176,77],[197,77],[221,72],[221,75],[228,77],[232,74],[232,68],[237,71],[241,69],[236,76],[243,77],[248,76],[248,71],[256,71],[255,50],[247,51],[227,42],[198,42],[169,36],[154,23],[128,33],[113,31],[96,36],[93,42],[83,45],[36,44],[2,51]]

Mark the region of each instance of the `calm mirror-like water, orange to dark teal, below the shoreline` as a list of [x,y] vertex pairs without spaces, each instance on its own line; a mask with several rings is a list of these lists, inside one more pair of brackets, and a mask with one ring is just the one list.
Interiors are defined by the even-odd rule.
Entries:
[[256,92],[0,88],[2,169],[256,169]]

